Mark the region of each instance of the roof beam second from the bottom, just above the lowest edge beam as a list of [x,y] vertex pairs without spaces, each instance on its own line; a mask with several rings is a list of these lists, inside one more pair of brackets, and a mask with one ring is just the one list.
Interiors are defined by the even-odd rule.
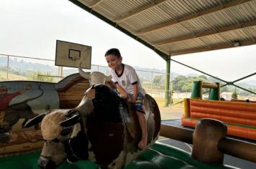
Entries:
[[246,28],[246,27],[250,27],[250,26],[256,26],[256,21],[250,21],[250,22],[247,22],[247,23],[236,24],[236,25],[233,25],[233,26],[228,26],[228,27],[224,27],[224,28],[220,28],[220,29],[216,29],[216,30],[202,32],[202,33],[199,33],[199,34],[192,34],[192,35],[188,35],[188,36],[185,36],[185,37],[178,37],[178,38],[163,40],[163,41],[160,41],[160,42],[156,42],[154,46],[159,47],[161,45],[170,44],[170,43],[173,43],[173,42],[180,42],[180,41],[183,41],[183,40],[210,36],[210,35],[219,34],[219,33],[223,33],[223,32],[233,31],[233,30],[236,30],[236,29],[242,29],[242,28]]

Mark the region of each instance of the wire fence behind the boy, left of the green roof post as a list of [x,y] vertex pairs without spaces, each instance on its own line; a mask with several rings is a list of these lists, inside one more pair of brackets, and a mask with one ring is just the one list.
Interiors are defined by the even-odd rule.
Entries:
[[[109,75],[109,67],[92,64],[86,72],[98,71]],[[165,105],[165,73],[136,69],[146,92]],[[0,80],[32,80],[58,82],[63,77],[78,73],[77,68],[55,66],[55,60],[0,54]]]

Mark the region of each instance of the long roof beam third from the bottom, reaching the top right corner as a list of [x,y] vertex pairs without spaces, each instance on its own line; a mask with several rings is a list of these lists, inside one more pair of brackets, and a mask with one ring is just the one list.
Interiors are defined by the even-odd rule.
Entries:
[[158,25],[152,26],[152,27],[150,27],[148,29],[142,29],[139,32],[137,32],[136,35],[140,36],[142,34],[147,34],[147,33],[156,31],[157,29],[162,29],[164,27],[171,26],[173,24],[179,24],[179,23],[181,23],[183,21],[188,21],[188,20],[191,20],[191,19],[196,19],[196,18],[198,18],[200,16],[203,16],[203,15],[206,15],[206,14],[210,14],[210,13],[213,13],[215,11],[220,11],[220,10],[223,10],[223,9],[227,9],[227,8],[232,7],[232,6],[237,6],[239,4],[243,4],[243,3],[247,2],[247,1],[252,1],[252,0],[235,0],[235,1],[231,1],[231,2],[229,2],[227,4],[221,4],[220,6],[216,6],[214,8],[207,9],[205,11],[200,11],[200,12],[198,12],[196,14],[191,14],[189,16],[185,16],[185,17],[180,18],[178,20],[169,21],[169,22],[167,22],[165,24],[158,24]]

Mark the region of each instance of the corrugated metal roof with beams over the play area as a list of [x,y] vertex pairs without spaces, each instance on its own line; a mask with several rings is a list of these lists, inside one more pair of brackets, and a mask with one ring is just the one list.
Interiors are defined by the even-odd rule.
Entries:
[[70,0],[163,59],[256,44],[256,0]]

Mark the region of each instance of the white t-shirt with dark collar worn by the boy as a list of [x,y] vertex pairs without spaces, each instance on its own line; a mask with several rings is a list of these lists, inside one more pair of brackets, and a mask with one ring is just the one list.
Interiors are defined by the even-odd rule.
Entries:
[[132,84],[138,84],[139,91],[143,96],[145,96],[146,92],[142,88],[142,84],[140,84],[140,79],[135,71],[135,69],[128,64],[122,64],[124,69],[120,75],[117,75],[115,69],[111,69],[112,81],[116,84],[118,83],[123,89],[133,95],[133,87]]

